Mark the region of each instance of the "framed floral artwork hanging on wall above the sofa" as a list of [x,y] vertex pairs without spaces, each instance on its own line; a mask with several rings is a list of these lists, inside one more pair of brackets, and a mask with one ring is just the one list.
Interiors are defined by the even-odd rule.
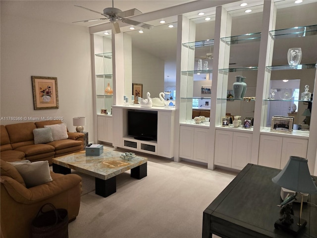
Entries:
[[32,76],[32,86],[34,110],[59,108],[56,77]]

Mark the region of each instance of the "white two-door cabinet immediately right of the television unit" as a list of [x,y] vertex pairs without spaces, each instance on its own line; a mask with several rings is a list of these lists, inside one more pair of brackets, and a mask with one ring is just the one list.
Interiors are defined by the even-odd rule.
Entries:
[[208,128],[180,126],[179,157],[208,163]]

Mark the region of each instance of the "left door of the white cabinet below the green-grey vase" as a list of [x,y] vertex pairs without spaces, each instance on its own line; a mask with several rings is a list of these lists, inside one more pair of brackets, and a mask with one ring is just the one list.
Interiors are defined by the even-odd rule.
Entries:
[[231,168],[232,131],[216,130],[214,164]]

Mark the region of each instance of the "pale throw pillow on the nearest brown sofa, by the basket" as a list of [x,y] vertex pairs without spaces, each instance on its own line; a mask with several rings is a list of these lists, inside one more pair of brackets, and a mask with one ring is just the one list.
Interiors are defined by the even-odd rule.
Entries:
[[48,161],[11,163],[22,176],[26,187],[34,187],[53,181]]

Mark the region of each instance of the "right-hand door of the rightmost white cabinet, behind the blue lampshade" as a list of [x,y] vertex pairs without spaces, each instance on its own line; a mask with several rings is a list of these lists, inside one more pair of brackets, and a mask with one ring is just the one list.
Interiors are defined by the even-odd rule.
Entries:
[[307,145],[307,139],[283,138],[280,169],[285,167],[291,155],[306,158]]

